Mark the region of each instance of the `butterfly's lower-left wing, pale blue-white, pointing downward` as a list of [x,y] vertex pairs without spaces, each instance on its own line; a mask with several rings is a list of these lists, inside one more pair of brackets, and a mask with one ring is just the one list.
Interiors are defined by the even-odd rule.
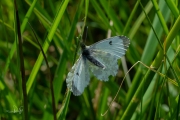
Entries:
[[81,95],[89,84],[89,68],[86,59],[80,56],[66,78],[67,87],[75,96]]

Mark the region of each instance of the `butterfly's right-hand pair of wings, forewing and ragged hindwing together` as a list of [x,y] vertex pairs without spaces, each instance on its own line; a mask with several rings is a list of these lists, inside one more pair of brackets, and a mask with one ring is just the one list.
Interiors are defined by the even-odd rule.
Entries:
[[91,46],[91,55],[105,65],[102,69],[89,62],[90,70],[99,80],[108,81],[109,76],[115,76],[118,71],[120,59],[129,47],[129,39],[125,36],[116,36],[97,42]]

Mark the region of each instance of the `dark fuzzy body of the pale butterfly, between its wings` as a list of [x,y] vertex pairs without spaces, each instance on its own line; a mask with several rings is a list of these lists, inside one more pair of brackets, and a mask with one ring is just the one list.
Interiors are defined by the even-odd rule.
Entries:
[[89,49],[84,49],[82,52],[82,56],[85,59],[88,59],[91,63],[93,63],[95,66],[98,66],[100,68],[105,68],[105,66],[99,62],[97,59],[95,59],[92,55],[91,55],[91,51]]

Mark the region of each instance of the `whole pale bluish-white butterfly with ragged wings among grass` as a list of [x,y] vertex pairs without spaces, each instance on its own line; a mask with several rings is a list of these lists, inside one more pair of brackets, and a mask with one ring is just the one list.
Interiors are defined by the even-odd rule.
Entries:
[[99,80],[108,81],[110,75],[117,74],[117,60],[125,54],[129,44],[125,36],[104,39],[91,46],[81,43],[81,55],[66,78],[67,87],[75,96],[81,95],[89,84],[90,72]]

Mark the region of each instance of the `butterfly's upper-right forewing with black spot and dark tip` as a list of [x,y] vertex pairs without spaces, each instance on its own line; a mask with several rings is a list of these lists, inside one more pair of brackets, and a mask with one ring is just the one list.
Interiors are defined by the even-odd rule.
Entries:
[[126,36],[115,36],[101,40],[89,46],[89,48],[101,50],[121,58],[125,54],[129,44],[130,40]]

